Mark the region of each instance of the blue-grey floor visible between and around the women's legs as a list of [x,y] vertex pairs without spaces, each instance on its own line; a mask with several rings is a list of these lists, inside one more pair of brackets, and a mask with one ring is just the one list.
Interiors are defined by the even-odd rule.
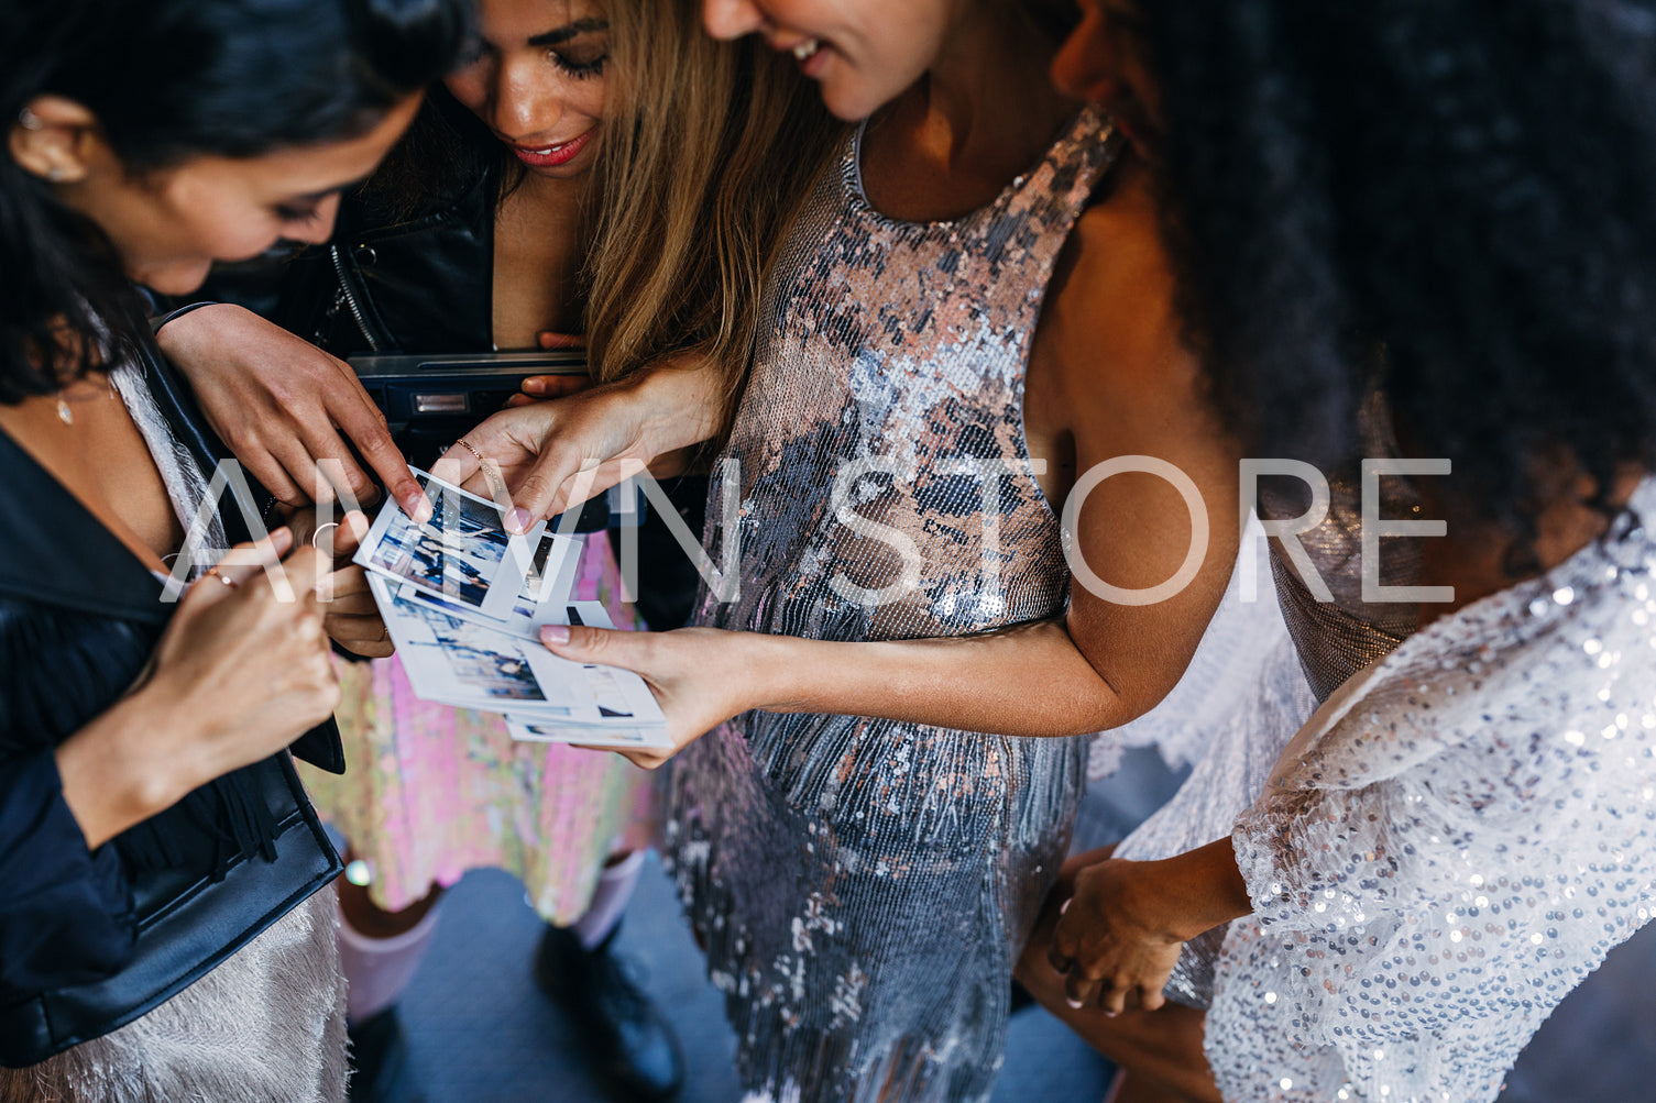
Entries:
[[[1090,845],[1163,800],[1176,777],[1153,755],[1095,787],[1078,833]],[[601,1103],[570,1025],[535,989],[540,922],[508,876],[467,876],[444,906],[436,946],[404,1004],[409,1063],[397,1103]],[[661,866],[651,861],[618,939],[656,1002],[671,1009],[689,1080],[682,1103],[737,1103],[735,1038],[707,984]],[[1656,1100],[1656,924],[1611,956],[1537,1035],[1502,1103]],[[995,1103],[1098,1103],[1108,1062],[1040,1009],[1013,1019]]]

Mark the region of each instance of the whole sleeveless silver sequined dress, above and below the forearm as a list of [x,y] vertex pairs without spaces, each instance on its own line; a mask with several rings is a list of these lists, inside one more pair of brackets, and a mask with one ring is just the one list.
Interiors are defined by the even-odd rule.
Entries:
[[[709,595],[702,624],[916,639],[1065,609],[1023,378],[1053,265],[1113,149],[1083,111],[990,205],[911,224],[869,207],[848,142],[770,288],[775,325],[727,450],[742,591]],[[669,860],[730,997],[745,1086],[987,1098],[1012,961],[1063,861],[1085,762],[1085,739],[767,712],[681,754]]]

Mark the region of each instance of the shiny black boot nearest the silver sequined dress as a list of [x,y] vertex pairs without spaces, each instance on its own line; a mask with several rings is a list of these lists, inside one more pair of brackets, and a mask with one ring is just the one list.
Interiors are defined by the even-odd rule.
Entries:
[[593,951],[563,927],[546,927],[535,980],[581,1035],[591,1068],[618,1103],[671,1100],[684,1085],[672,1027],[611,954],[616,932]]

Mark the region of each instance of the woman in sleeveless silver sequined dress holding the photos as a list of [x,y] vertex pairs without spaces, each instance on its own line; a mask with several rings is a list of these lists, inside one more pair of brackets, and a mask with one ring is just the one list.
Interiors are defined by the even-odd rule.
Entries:
[[[669,851],[757,1096],[989,1095],[1085,782],[1075,735],[1172,687],[1230,575],[1235,450],[1171,325],[1144,166],[1045,84],[1057,38],[1033,12],[709,5],[715,33],[763,31],[836,114],[873,118],[768,280],[704,628],[548,643],[643,671],[687,747]],[[707,434],[691,379],[661,383],[676,419],[628,396],[633,457]],[[497,419],[498,444],[586,432],[543,416]],[[1123,457],[1158,474],[1076,489]],[[1176,596],[1071,590],[1068,510],[1078,563]]]

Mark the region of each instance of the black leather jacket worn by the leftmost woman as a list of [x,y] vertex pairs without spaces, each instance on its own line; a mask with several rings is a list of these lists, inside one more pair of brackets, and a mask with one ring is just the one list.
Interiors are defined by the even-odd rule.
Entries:
[[[210,470],[220,446],[159,359],[151,391]],[[88,851],[53,760],[139,679],[161,583],[0,432],[0,1065],[104,1035],[207,974],[339,873],[286,754]],[[247,538],[225,510],[232,542]],[[343,770],[330,720],[293,750]]]

